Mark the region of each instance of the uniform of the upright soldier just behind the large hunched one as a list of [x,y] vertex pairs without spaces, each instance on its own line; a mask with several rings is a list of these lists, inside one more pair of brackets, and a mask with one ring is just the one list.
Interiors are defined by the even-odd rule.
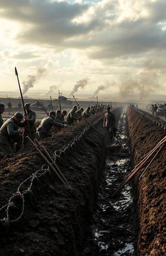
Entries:
[[28,127],[25,127],[25,132],[23,133],[23,145],[27,145],[27,139],[26,136],[28,135],[30,137],[30,139],[32,139],[32,141],[34,141],[35,137],[36,137],[36,127],[34,125],[34,122],[36,121],[36,113],[32,110],[29,110],[27,113],[27,117],[28,117],[28,122],[29,122],[29,130],[30,130],[30,134],[29,134],[29,130]]

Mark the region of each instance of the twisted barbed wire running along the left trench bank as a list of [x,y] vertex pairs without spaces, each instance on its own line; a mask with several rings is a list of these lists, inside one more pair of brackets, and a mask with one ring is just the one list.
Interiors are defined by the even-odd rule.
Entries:
[[[93,123],[93,125],[96,125],[99,121],[101,121],[101,119],[102,119],[102,117],[97,119],[97,121],[95,121]],[[56,162],[57,158],[60,159],[62,154],[66,154],[66,152],[69,149],[73,149],[73,147],[75,147],[75,145],[78,143],[78,141],[80,141],[82,139],[82,137],[88,132],[89,128],[91,128],[91,125],[90,124],[86,125],[79,135],[77,135],[69,143],[65,144],[61,149],[55,150],[54,151],[54,162]],[[9,223],[13,223],[13,222],[16,222],[21,219],[21,217],[23,216],[24,210],[25,210],[25,197],[24,196],[27,193],[32,192],[32,186],[34,184],[34,180],[36,180],[36,179],[39,180],[40,177],[43,177],[46,173],[50,173],[50,172],[51,171],[49,169],[49,165],[44,164],[44,165],[42,165],[41,169],[39,169],[38,171],[36,171],[32,175],[30,175],[30,177],[26,178],[23,182],[21,182],[21,184],[19,184],[17,192],[14,193],[14,195],[12,195],[12,197],[10,197],[10,199],[8,200],[8,204],[6,204],[0,208],[0,213],[6,208],[6,210],[5,210],[6,217],[3,219],[0,219],[0,223],[2,223],[3,225],[8,225]],[[16,201],[17,202],[19,201],[18,205],[19,205],[19,208],[21,208],[21,210],[16,218],[12,218],[12,216],[10,216],[11,215],[10,212],[12,212],[12,210],[14,210],[14,209],[18,210]],[[21,202],[21,206],[20,206],[20,202]]]

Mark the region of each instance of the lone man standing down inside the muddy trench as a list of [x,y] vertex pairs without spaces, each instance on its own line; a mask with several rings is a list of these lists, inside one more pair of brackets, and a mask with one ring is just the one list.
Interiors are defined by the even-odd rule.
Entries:
[[113,128],[115,126],[115,115],[110,111],[111,107],[106,108],[106,113],[104,114],[103,126],[108,130],[110,139],[113,139]]

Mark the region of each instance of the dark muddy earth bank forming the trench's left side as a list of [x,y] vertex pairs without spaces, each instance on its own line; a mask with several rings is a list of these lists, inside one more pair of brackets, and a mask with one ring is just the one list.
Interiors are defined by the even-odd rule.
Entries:
[[70,186],[31,147],[1,161],[0,255],[80,255],[105,161],[102,117],[88,119],[97,130],[82,121],[42,142]]

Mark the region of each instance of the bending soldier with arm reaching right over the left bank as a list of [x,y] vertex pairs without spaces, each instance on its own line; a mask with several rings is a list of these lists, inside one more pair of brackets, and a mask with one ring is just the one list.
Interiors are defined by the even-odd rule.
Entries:
[[45,117],[40,122],[40,126],[37,128],[37,134],[39,135],[40,139],[45,139],[46,137],[51,137],[49,131],[51,130],[52,126],[58,127],[66,127],[67,124],[61,124],[60,122],[56,122],[54,119],[56,117],[55,111],[49,112],[49,117]]

